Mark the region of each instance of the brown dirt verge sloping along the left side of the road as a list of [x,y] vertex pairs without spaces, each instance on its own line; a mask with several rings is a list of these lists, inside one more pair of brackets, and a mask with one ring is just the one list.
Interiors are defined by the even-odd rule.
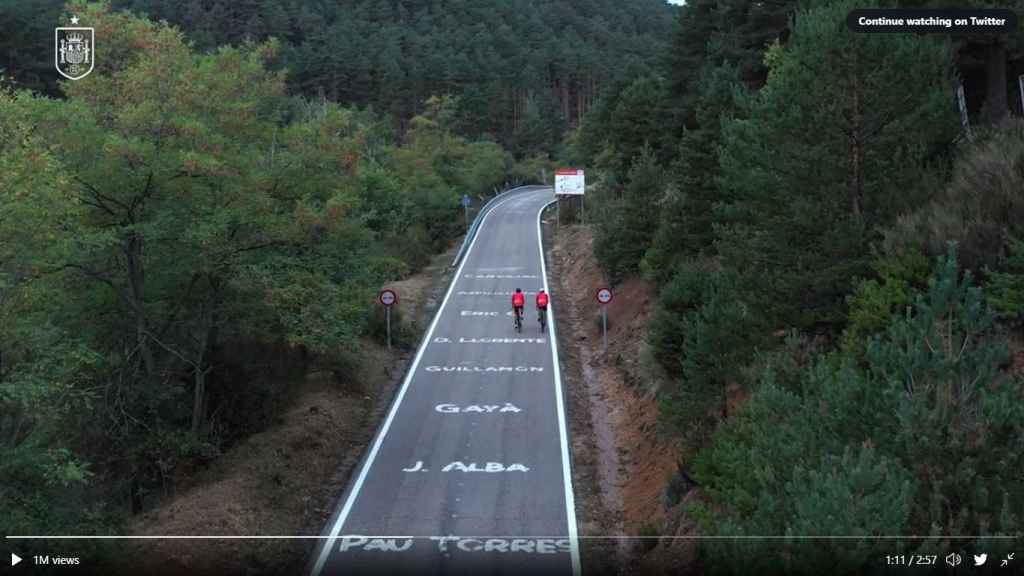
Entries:
[[[456,246],[455,248],[458,248]],[[455,248],[426,270],[389,284],[417,332],[447,286]],[[231,448],[189,488],[142,515],[133,536],[319,534],[390,405],[415,351],[364,342],[351,381],[310,373],[270,428]],[[146,539],[119,558],[135,574],[299,574],[313,539]],[[120,567],[119,567],[120,568]]]

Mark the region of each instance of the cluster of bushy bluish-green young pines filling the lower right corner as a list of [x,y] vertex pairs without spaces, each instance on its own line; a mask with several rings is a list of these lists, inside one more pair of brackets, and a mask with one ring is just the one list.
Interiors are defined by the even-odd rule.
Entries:
[[[870,339],[867,368],[819,358],[798,389],[766,371],[693,463],[716,510],[700,517],[705,533],[865,539],[782,551],[758,539],[708,542],[707,566],[854,574],[883,552],[872,535],[1019,533],[1024,381],[999,371],[1005,342],[952,248],[913,295],[912,314],[893,315]],[[937,541],[904,546],[935,553]]]

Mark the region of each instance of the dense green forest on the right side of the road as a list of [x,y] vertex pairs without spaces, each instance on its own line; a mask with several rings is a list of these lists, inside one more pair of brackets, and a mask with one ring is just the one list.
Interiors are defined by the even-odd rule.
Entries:
[[[795,537],[706,541],[709,573],[856,574],[1024,529],[1024,33],[845,24],[950,4],[1021,7],[690,0],[665,68],[571,137],[606,274],[658,287],[689,517]],[[836,534],[934,538],[796,538]]]

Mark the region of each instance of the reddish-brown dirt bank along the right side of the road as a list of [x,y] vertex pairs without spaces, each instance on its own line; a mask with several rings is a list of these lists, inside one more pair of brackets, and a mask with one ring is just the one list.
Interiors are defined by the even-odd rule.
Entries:
[[594,293],[607,284],[593,255],[590,229],[555,231],[552,222],[546,231],[584,571],[693,573],[695,540],[651,539],[693,535],[683,505],[669,507],[666,500],[682,448],[657,427],[658,376],[645,338],[656,294],[639,279],[613,287],[605,349]]

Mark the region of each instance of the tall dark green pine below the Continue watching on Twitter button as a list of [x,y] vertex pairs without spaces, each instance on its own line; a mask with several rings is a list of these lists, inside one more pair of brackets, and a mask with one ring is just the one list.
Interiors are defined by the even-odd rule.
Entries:
[[790,44],[767,55],[749,119],[728,124],[720,158],[723,260],[772,302],[764,312],[802,328],[842,322],[867,242],[913,200],[906,192],[927,151],[955,133],[947,50],[853,34],[842,23],[857,5],[798,15]]

